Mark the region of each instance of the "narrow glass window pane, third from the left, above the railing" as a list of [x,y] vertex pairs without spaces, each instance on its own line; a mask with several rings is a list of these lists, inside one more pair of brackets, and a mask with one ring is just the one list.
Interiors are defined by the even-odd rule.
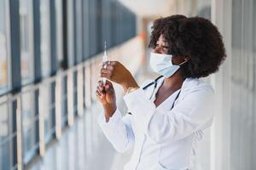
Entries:
[[42,76],[50,73],[50,18],[49,0],[40,0],[41,69]]

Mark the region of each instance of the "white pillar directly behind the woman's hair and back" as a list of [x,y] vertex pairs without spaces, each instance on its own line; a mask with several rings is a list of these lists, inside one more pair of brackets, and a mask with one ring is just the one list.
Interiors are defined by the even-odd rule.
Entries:
[[212,0],[212,22],[224,37],[227,58],[211,77],[217,93],[217,111],[212,126],[211,169],[230,169],[231,0]]

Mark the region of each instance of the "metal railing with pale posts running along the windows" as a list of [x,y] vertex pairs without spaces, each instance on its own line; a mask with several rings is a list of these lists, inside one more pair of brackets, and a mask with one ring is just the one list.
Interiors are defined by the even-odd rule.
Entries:
[[[11,169],[23,169],[24,164],[32,161],[33,157],[44,156],[45,146],[51,140],[45,139],[46,117],[50,117],[49,123],[54,121],[49,126],[49,136],[52,136],[52,139],[60,139],[63,126],[72,126],[75,116],[84,115],[84,110],[96,99],[93,92],[98,77],[96,70],[101,62],[99,57],[88,59],[38,84],[28,85],[18,94],[6,94],[0,98],[0,108],[7,107],[6,131],[9,132],[5,134],[6,137],[0,138],[0,147],[9,146],[7,155],[11,154]],[[76,87],[73,86],[74,80],[77,81]],[[67,89],[64,89],[66,86]],[[42,94],[43,88],[48,90],[49,95]],[[76,104],[74,97],[77,98]]]

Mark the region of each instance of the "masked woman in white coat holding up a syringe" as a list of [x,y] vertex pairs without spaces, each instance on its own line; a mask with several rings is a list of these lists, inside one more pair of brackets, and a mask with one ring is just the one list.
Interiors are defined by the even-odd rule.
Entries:
[[216,26],[199,17],[172,15],[154,20],[152,28],[150,65],[161,76],[139,87],[119,62],[106,63],[101,77],[124,88],[130,114],[121,116],[112,83],[99,82],[99,124],[119,152],[134,146],[125,170],[193,169],[195,146],[211,126],[215,107],[212,86],[199,78],[218,71],[224,43]]

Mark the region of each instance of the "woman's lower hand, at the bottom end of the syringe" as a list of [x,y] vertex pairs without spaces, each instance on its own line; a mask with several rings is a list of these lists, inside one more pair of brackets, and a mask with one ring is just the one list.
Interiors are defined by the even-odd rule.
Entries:
[[113,116],[114,111],[116,111],[116,97],[113,84],[108,80],[105,85],[102,81],[99,81],[96,88],[96,98],[101,102],[105,110],[106,121],[108,122],[109,117]]

